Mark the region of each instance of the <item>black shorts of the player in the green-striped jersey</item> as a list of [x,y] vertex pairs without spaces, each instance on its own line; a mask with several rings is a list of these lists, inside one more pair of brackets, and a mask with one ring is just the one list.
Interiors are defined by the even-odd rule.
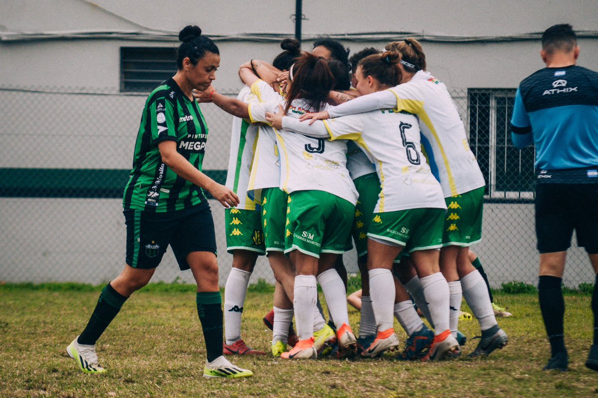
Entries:
[[172,246],[182,271],[189,269],[187,254],[193,251],[216,254],[214,221],[207,200],[179,211],[124,209],[123,214],[127,224],[125,261],[133,268],[156,268],[168,245]]

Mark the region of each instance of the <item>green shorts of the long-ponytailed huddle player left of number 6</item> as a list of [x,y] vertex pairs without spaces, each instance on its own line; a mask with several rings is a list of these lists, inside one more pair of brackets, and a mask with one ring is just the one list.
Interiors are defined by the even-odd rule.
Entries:
[[297,191],[289,195],[285,254],[293,250],[309,256],[344,253],[355,206],[324,191]]

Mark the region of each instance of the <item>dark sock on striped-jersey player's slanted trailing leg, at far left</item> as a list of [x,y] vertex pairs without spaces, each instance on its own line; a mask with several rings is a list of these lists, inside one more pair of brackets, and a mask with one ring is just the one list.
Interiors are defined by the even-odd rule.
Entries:
[[103,288],[102,293],[100,293],[96,309],[93,310],[93,314],[91,314],[91,318],[77,342],[79,344],[96,344],[97,339],[102,336],[106,327],[112,322],[128,298],[122,296],[118,291],[114,290],[114,287],[107,284]]

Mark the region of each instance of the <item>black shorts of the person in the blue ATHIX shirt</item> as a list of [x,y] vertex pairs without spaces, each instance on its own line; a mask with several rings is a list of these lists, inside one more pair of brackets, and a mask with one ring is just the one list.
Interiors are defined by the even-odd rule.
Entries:
[[566,251],[573,229],[579,247],[598,253],[598,184],[536,184],[539,252]]

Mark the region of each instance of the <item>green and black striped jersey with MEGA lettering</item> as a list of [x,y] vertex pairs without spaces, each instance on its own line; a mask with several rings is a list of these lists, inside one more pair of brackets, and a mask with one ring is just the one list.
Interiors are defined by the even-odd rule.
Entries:
[[208,126],[197,102],[190,101],[172,78],[164,81],[145,102],[124,208],[166,212],[205,200],[199,186],[163,163],[158,144],[176,142],[176,151],[202,171],[207,138]]

